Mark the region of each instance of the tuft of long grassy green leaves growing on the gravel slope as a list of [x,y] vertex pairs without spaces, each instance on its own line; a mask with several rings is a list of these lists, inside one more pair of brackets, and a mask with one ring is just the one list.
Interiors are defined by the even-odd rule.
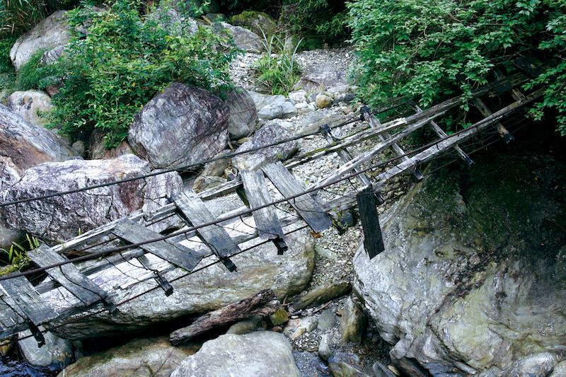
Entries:
[[[289,94],[291,88],[301,78],[301,69],[296,63],[297,43],[293,51],[285,48],[284,40],[276,35],[267,38],[264,35],[263,47],[266,54],[255,62],[253,69],[259,86],[270,88],[272,94]],[[276,54],[275,52],[279,52]]]

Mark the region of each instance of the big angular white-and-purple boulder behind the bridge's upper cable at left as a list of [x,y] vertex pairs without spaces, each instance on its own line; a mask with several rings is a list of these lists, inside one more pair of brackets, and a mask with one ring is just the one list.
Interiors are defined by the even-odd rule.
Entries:
[[[132,154],[113,160],[42,163],[25,170],[6,192],[6,201],[100,185],[149,173],[149,164]],[[43,240],[62,242],[144,207],[155,209],[166,196],[182,190],[177,173],[108,185],[49,199],[5,207],[6,224]]]

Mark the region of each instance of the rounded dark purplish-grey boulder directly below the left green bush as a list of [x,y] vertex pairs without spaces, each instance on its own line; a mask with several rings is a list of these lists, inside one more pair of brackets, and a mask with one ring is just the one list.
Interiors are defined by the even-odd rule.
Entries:
[[172,83],[134,118],[128,141],[152,168],[212,158],[228,141],[228,107],[212,93]]

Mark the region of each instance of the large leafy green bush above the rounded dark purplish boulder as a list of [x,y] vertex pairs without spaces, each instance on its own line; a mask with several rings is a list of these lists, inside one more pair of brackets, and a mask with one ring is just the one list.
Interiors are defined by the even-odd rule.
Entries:
[[[93,129],[105,133],[108,148],[127,137],[134,115],[172,82],[213,91],[229,87],[228,65],[235,53],[227,35],[206,28],[196,33],[173,24],[167,9],[142,16],[139,1],[119,0],[107,11],[69,12],[73,29],[87,18],[54,64],[63,79],[54,97],[51,127],[73,139]],[[156,16],[157,14],[157,16]]]

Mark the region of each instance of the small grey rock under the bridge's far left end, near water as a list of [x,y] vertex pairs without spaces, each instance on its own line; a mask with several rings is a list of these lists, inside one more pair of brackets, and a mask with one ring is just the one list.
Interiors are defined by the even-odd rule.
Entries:
[[74,361],[73,344],[69,340],[61,339],[51,332],[44,332],[43,336],[45,344],[40,348],[29,330],[21,332],[21,337],[26,338],[18,340],[18,346],[25,361],[52,371],[60,371]]

